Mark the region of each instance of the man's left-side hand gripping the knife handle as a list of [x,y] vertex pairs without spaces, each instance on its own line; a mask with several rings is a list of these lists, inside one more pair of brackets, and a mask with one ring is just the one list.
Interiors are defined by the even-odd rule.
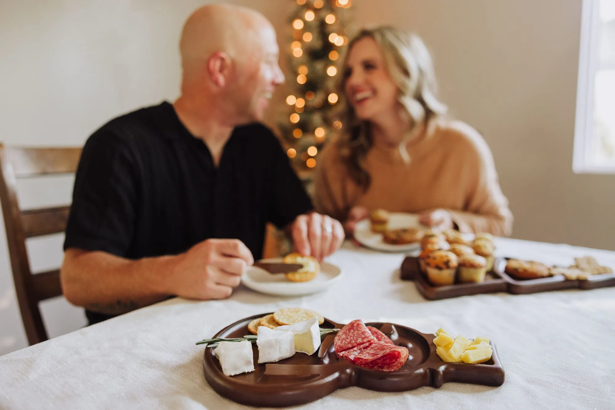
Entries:
[[178,256],[169,276],[173,294],[189,299],[224,299],[241,282],[252,253],[238,239],[207,239]]

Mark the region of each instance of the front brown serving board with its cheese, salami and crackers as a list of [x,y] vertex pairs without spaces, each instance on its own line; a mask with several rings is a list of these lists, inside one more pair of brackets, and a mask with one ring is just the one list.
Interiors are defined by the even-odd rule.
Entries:
[[340,325],[301,308],[244,318],[197,344],[205,345],[208,385],[249,406],[296,406],[351,386],[402,392],[446,382],[504,383],[486,337],[362,320]]

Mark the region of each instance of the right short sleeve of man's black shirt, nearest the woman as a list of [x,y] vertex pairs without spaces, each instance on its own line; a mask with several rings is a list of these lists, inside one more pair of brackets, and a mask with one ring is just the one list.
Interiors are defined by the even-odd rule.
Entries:
[[313,207],[282,146],[275,136],[272,137],[274,144],[271,149],[274,154],[271,178],[274,187],[268,220],[279,229],[284,229],[298,215],[311,211]]

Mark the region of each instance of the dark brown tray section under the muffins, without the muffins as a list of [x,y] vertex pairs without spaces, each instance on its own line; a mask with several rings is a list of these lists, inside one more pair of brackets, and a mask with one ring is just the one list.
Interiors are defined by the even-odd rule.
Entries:
[[[502,258],[496,259],[496,261],[494,261],[494,266],[502,260]],[[485,282],[434,286],[429,283],[427,277],[421,272],[418,266],[418,258],[414,256],[408,256],[403,260],[400,274],[402,280],[415,281],[416,289],[419,293],[421,293],[425,299],[431,301],[458,298],[459,296],[469,296],[472,294],[506,292],[508,289],[506,280],[494,272],[487,272]]]

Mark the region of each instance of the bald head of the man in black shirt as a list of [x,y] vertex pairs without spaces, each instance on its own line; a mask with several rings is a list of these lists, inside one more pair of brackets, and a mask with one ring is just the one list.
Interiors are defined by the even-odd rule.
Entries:
[[182,97],[203,107],[215,104],[231,126],[261,120],[275,87],[284,82],[276,31],[246,7],[196,10],[184,25],[180,52]]

